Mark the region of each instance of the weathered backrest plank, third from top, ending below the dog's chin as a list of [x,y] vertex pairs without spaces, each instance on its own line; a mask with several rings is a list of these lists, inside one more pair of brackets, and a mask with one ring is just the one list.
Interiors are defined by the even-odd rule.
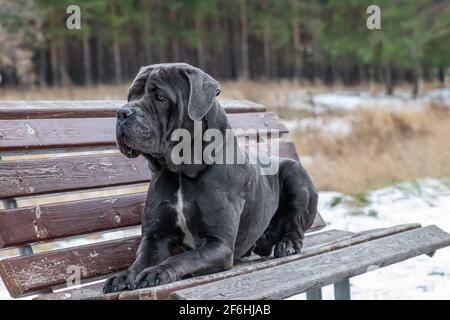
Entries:
[[122,154],[0,162],[0,199],[142,183],[150,180],[143,157]]

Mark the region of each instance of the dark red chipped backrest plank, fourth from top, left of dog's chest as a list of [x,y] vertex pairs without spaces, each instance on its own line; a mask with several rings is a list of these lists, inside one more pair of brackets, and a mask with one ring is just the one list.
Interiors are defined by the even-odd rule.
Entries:
[[147,193],[0,210],[0,248],[140,224]]

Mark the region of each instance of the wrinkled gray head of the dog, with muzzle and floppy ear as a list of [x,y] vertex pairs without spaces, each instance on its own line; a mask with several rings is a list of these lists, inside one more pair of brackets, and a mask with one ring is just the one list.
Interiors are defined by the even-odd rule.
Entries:
[[128,90],[128,103],[117,112],[119,150],[129,158],[142,154],[157,167],[174,144],[172,132],[192,131],[219,93],[215,79],[188,64],[142,67]]

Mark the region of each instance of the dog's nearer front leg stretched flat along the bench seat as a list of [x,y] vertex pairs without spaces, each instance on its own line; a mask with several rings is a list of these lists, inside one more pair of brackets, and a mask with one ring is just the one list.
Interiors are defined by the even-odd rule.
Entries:
[[173,282],[190,274],[218,272],[232,265],[232,249],[219,239],[209,238],[198,249],[171,256],[159,265],[144,269],[136,277],[134,289]]

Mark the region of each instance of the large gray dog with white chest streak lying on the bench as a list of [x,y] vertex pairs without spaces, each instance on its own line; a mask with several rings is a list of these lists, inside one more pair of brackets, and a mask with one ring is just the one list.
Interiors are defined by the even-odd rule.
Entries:
[[[273,175],[250,163],[174,163],[175,129],[192,133],[194,121],[224,136],[230,129],[219,93],[216,80],[182,63],[143,67],[133,81],[117,113],[117,144],[127,157],[148,160],[152,181],[136,260],[106,281],[105,293],[226,270],[252,252],[300,252],[317,210],[317,193],[300,163],[280,159]],[[237,144],[234,135],[223,147],[230,143]]]

